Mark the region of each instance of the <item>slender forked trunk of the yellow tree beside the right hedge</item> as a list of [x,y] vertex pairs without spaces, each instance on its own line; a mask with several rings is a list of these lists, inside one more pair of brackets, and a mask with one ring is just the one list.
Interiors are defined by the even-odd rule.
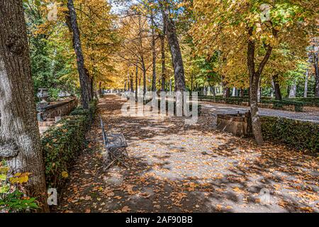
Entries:
[[[248,35],[252,37],[254,28],[250,27],[248,29]],[[273,29],[272,33],[276,38],[276,31]],[[262,127],[258,115],[258,89],[259,89],[259,80],[262,74],[262,70],[264,70],[264,66],[269,60],[270,55],[272,54],[272,46],[267,46],[267,52],[260,62],[257,72],[255,71],[255,63],[254,63],[254,51],[255,51],[255,43],[254,40],[248,39],[247,41],[247,67],[250,74],[250,114],[252,120],[252,134],[254,135],[254,139],[258,145],[262,145],[264,143],[264,139],[262,138]]]

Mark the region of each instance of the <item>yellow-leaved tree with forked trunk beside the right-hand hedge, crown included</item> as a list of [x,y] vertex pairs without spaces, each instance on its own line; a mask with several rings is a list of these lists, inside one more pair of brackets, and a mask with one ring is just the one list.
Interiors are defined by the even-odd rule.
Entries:
[[194,38],[202,50],[219,50],[227,61],[242,55],[250,78],[252,133],[262,145],[258,116],[259,83],[272,50],[279,43],[298,45],[314,32],[310,1],[194,1]]

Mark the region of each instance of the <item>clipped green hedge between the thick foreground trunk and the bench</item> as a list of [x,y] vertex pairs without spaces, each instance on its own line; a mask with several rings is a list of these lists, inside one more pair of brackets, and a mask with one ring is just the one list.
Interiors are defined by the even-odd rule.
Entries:
[[45,175],[48,187],[59,187],[70,161],[79,153],[85,144],[85,133],[88,131],[96,112],[94,100],[89,110],[82,107],[74,109],[43,134],[41,139],[45,161]]

